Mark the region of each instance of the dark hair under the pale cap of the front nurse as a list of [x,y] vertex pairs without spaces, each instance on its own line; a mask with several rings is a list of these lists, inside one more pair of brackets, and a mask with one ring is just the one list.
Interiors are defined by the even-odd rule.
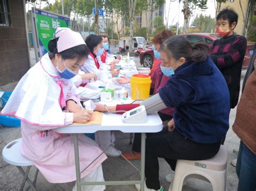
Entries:
[[52,59],[55,56],[55,54],[59,54],[60,56],[62,56],[64,60],[77,58],[77,60],[79,61],[79,60],[82,60],[83,58],[87,58],[88,54],[90,53],[90,50],[86,45],[78,45],[69,49],[65,49],[62,52],[58,52],[58,49],[57,49],[58,39],[59,39],[58,37],[51,39],[48,43],[48,49],[50,51],[50,54],[49,54],[50,59]]

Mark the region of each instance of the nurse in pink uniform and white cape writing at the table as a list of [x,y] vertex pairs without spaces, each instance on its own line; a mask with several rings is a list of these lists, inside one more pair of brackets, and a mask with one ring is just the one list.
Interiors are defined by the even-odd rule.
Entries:
[[[72,135],[55,132],[59,126],[86,123],[93,111],[82,109],[77,88],[71,80],[85,62],[89,49],[79,33],[68,28],[56,30],[46,53],[22,77],[6,103],[1,115],[21,119],[22,154],[51,183],[76,180],[75,152]],[[81,171],[102,151],[90,138],[79,135]],[[94,161],[81,173],[81,181],[104,181],[102,162],[106,155]],[[76,190],[76,186],[73,190]],[[105,186],[82,186],[82,190],[104,190]]]

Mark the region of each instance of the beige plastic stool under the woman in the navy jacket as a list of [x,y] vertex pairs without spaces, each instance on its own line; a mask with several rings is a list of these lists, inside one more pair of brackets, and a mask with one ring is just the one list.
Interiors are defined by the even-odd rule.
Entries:
[[219,152],[208,160],[177,160],[169,190],[180,191],[188,178],[197,178],[212,184],[213,190],[226,190],[227,150],[221,145]]

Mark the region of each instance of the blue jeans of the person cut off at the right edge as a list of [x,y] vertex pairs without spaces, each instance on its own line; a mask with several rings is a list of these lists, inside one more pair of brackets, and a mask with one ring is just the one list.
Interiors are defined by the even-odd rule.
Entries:
[[240,142],[237,158],[238,191],[256,190],[256,155]]

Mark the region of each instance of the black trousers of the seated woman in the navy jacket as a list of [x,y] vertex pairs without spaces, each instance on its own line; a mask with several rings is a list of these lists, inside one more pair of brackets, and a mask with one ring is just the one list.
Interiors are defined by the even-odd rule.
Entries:
[[219,151],[220,142],[214,144],[196,143],[182,136],[176,129],[146,138],[145,176],[147,188],[159,189],[158,157],[164,158],[175,171],[176,162],[180,160],[206,160]]

